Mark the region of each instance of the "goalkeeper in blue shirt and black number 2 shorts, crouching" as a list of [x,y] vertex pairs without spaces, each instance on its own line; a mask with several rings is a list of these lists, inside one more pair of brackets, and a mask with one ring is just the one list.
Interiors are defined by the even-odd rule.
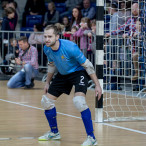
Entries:
[[[74,85],[73,104],[81,113],[87,133],[87,139],[82,145],[97,145],[97,140],[93,132],[91,112],[85,100],[88,75],[95,83],[95,94],[96,96],[98,94],[98,100],[102,94],[92,63],[86,59],[75,43],[69,40],[59,39],[59,32],[56,26],[49,25],[45,28],[44,40],[46,43],[44,52],[48,58],[49,65],[47,81],[44,87],[45,95],[42,96],[41,104],[45,110],[44,113],[51,130],[43,136],[40,136],[38,140],[61,139],[57,127],[55,101],[62,93],[69,95]],[[58,74],[50,84],[55,68],[58,69]]]

